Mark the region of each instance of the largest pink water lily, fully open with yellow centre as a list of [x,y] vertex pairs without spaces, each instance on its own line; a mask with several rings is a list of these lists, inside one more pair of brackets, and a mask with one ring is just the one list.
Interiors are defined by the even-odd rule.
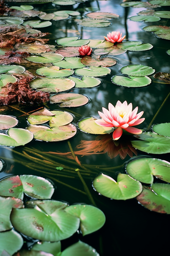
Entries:
[[[117,101],[115,107],[109,103],[108,110],[102,107],[103,113],[98,111],[102,119],[95,120],[96,124],[100,126],[115,127],[113,132],[113,140],[118,140],[122,135],[122,129],[130,134],[141,134],[142,131],[132,127],[133,125],[140,124],[145,118],[140,118],[143,111],[137,114],[138,107],[132,111],[132,103],[127,105],[127,101],[121,103]],[[139,119],[140,118],[140,119]]]

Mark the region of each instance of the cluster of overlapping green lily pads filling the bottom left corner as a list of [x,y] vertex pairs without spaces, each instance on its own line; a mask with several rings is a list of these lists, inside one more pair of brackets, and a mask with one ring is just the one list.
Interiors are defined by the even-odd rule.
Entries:
[[[23,238],[18,232],[45,242],[35,244],[30,252],[21,250],[17,255],[38,255],[38,250],[49,252],[52,256],[61,253],[60,240],[70,237],[79,226],[82,235],[103,226],[105,216],[101,210],[87,204],[69,206],[67,203],[50,200],[53,192],[53,185],[38,176],[9,176],[0,181],[0,254],[13,255],[22,247]],[[38,200],[24,203],[23,193],[30,199],[33,197]],[[99,256],[95,249],[81,241],[69,246],[61,255],[68,252],[73,255],[76,250],[83,252],[84,248],[87,250],[84,255]]]

